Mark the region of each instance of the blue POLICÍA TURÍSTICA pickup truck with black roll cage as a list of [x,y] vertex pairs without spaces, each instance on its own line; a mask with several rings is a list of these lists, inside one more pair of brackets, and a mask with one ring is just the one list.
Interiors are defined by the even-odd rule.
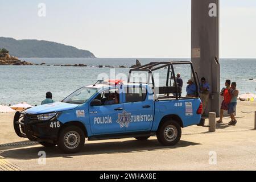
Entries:
[[[130,70],[126,83],[97,81],[61,102],[18,111],[14,130],[19,137],[45,147],[57,145],[68,154],[79,152],[85,138],[147,140],[156,135],[164,146],[175,145],[181,138],[181,128],[199,125],[202,111],[198,92],[193,98],[181,97],[181,88],[173,76],[175,64],[190,64],[195,78],[191,62],[143,65]],[[152,72],[161,68],[168,68],[166,86],[156,88]],[[148,81],[132,82],[133,72],[146,72]],[[195,83],[198,90],[196,79]]]

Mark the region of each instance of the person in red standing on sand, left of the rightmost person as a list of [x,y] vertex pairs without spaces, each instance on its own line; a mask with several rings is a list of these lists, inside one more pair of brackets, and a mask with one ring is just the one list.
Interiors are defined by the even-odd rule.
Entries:
[[231,84],[231,81],[226,80],[226,82],[225,82],[226,88],[222,89],[222,92],[220,93],[220,95],[224,97],[224,100],[222,101],[222,104],[221,104],[220,120],[218,120],[217,123],[223,123],[222,119],[223,119],[223,115],[224,115],[224,110],[228,110],[228,105],[229,105],[230,101],[232,100],[232,96],[230,94],[230,92],[231,92],[230,84]]

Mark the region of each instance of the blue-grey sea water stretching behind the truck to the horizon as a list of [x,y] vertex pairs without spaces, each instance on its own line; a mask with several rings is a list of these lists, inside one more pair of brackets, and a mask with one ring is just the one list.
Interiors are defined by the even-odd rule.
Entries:
[[[119,73],[127,75],[130,68],[118,67],[121,65],[131,67],[136,59],[22,58],[21,60],[35,64],[46,63],[46,65],[0,65],[0,104],[13,105],[27,102],[31,105],[39,105],[44,100],[46,92],[49,91],[53,94],[53,100],[60,101],[82,86],[94,84],[102,73],[110,76],[110,69],[114,69],[115,75]],[[142,64],[151,61],[189,61],[189,59],[139,60]],[[56,64],[86,64],[88,67],[53,66]],[[225,86],[225,80],[230,79],[237,82],[240,93],[256,94],[256,59],[221,59],[220,64],[221,88]],[[98,68],[98,65],[109,65],[115,68]],[[166,72],[167,69],[156,72],[159,75],[159,86],[166,84]],[[190,77],[189,68],[178,65],[175,68],[175,74],[178,72],[184,80],[184,90],[185,82]]]

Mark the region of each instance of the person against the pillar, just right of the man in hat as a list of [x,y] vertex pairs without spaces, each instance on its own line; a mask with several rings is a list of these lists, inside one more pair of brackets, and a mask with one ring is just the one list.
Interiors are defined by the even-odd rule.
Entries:
[[208,82],[206,82],[206,79],[203,77],[201,78],[201,84],[200,84],[200,98],[201,98],[201,101],[203,102],[202,114],[204,114],[205,107],[208,104],[209,95],[210,95],[210,85]]

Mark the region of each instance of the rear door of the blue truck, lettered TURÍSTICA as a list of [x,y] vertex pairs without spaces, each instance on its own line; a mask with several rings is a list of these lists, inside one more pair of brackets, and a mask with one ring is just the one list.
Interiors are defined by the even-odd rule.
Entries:
[[154,119],[154,105],[153,100],[148,99],[146,86],[127,86],[123,95],[125,97],[123,115],[127,115],[129,120],[125,131],[150,131]]

